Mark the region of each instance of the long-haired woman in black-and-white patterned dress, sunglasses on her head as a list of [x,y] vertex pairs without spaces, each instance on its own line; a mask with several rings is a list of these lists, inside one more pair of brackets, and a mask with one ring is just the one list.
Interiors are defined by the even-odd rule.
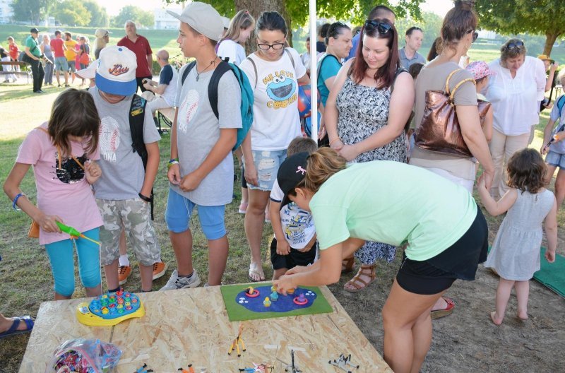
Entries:
[[[398,33],[391,21],[367,20],[357,57],[340,69],[330,90],[324,121],[331,148],[348,162],[406,162],[404,126],[414,105],[412,77],[400,67]],[[364,289],[376,280],[377,259],[391,262],[396,247],[367,242],[356,251],[362,266],[344,288]],[[350,271],[353,259],[343,262]]]

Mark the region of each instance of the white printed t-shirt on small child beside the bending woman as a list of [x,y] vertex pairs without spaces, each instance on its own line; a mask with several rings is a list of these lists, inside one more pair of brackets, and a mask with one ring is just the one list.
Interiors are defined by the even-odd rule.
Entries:
[[[278,181],[275,180],[273,189],[270,191],[270,199],[275,202],[282,202],[285,193]],[[311,213],[299,208],[296,203],[291,202],[280,209],[280,225],[283,227],[285,239],[292,249],[304,249],[308,242],[316,235],[314,219]]]

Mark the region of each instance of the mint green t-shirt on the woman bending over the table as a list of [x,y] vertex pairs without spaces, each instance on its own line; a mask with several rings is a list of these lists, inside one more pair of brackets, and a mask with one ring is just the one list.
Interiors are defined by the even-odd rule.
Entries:
[[320,249],[349,237],[400,245],[430,259],[467,232],[477,203],[462,186],[421,167],[356,163],[330,177],[310,201]]

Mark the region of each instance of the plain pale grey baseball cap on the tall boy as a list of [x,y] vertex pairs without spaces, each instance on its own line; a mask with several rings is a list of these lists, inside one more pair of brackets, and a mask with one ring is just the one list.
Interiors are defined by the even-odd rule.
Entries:
[[224,32],[222,16],[210,4],[194,1],[185,6],[180,14],[173,11],[167,11],[167,13],[216,42]]

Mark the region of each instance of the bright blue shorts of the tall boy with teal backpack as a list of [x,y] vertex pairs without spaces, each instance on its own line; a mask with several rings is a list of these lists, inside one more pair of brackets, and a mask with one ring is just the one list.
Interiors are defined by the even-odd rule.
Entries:
[[198,220],[206,239],[219,239],[226,235],[224,213],[225,206],[201,206],[169,189],[165,222],[167,229],[182,233],[190,228],[189,220],[194,206],[198,209]]

